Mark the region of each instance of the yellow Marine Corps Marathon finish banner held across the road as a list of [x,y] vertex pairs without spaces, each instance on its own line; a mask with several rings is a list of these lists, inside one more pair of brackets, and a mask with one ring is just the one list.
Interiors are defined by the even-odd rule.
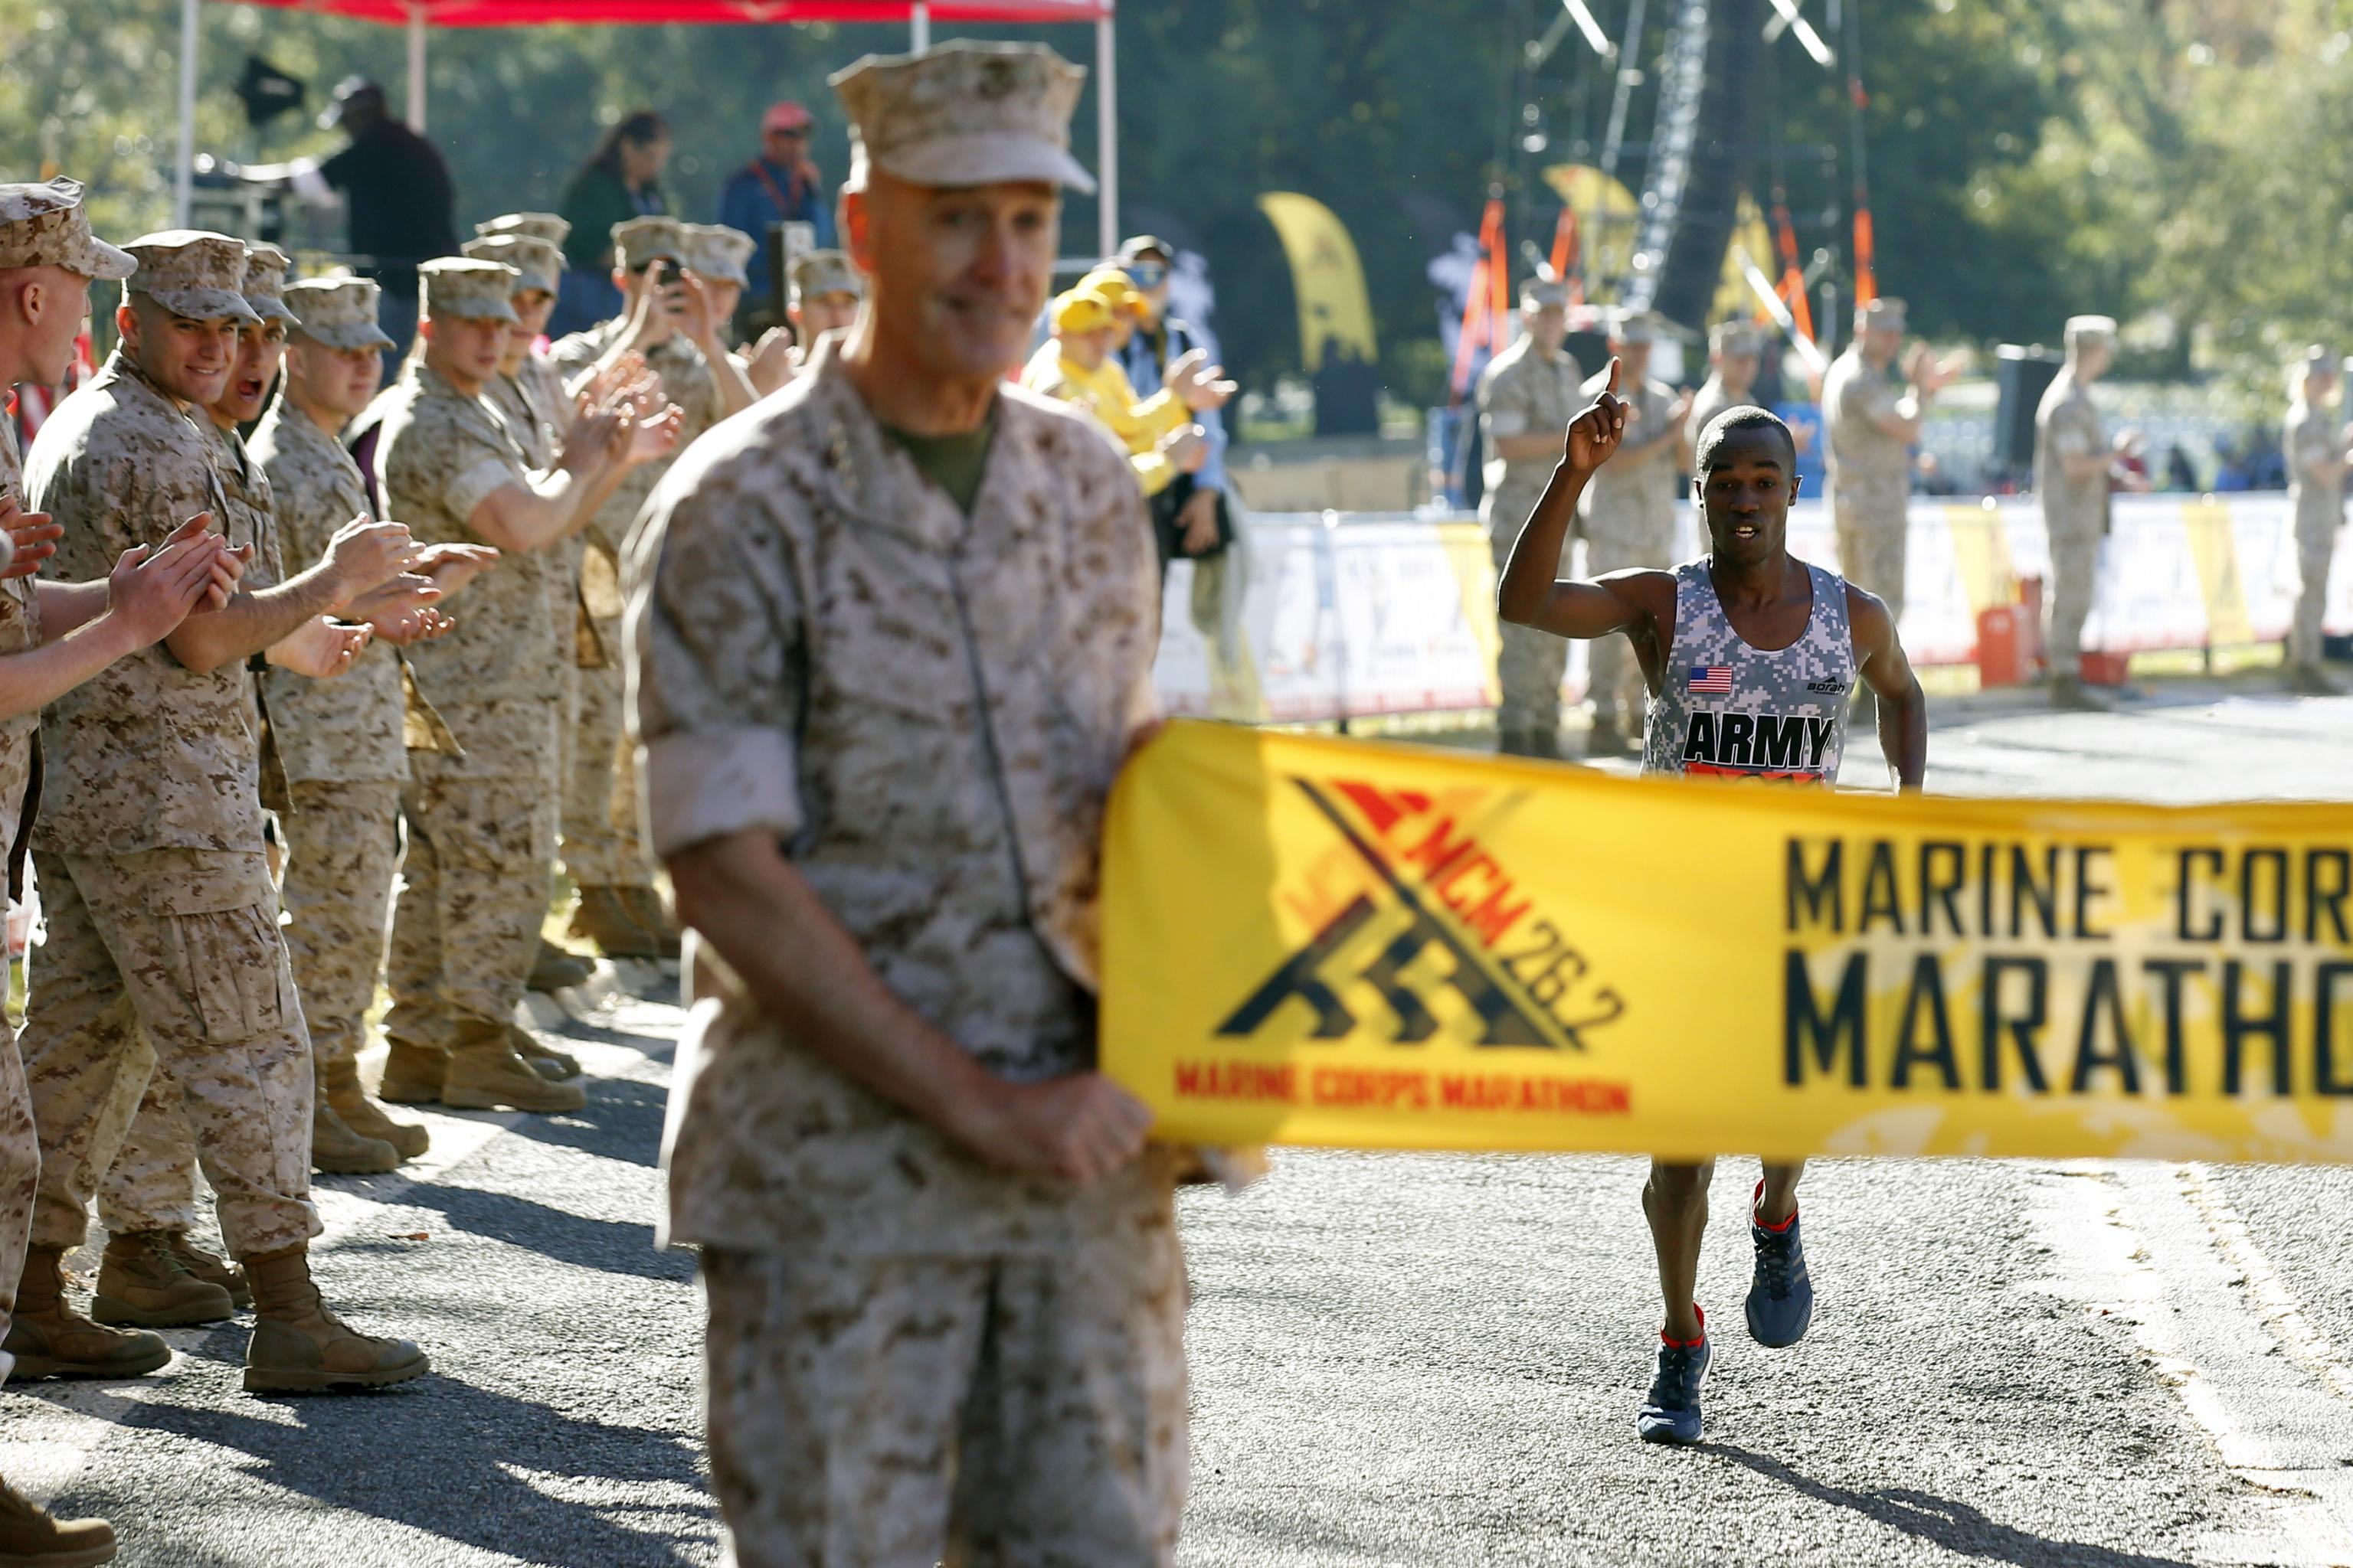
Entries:
[[[1769,769],[1807,736],[1720,715]],[[1176,722],[1104,860],[1155,1138],[2353,1161],[2353,813],[1642,780]]]

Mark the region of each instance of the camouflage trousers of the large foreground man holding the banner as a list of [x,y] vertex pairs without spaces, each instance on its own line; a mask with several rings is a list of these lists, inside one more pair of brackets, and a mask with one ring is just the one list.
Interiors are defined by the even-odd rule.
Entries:
[[708,1248],[729,1561],[1174,1561],[1186,1281],[1162,1215],[1045,1260]]

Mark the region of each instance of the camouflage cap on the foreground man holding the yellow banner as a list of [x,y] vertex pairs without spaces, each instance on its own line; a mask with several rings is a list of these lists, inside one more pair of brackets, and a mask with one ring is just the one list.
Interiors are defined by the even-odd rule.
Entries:
[[1071,158],[1071,110],[1087,73],[1045,45],[958,38],[922,54],[868,54],[828,80],[849,115],[852,190],[868,169],[915,186],[1094,190]]

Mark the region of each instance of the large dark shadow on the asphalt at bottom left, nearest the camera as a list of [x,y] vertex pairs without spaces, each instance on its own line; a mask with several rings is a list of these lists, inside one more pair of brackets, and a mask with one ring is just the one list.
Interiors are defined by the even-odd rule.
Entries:
[[[221,1378],[235,1375],[240,1354],[242,1347],[231,1347],[226,1363],[216,1363]],[[212,1375],[202,1371],[205,1361],[212,1356],[195,1361],[198,1375]],[[546,1568],[706,1563],[715,1540],[715,1512],[694,1448],[682,1436],[562,1415],[447,1375],[376,1394],[280,1399],[268,1418],[162,1399],[122,1399],[104,1418],[125,1429],[144,1427],[242,1453],[252,1460],[238,1465],[242,1476],[325,1509],[386,1519]],[[151,1481],[125,1476],[92,1486],[85,1472],[61,1502],[73,1514],[132,1521],[125,1530],[129,1561],[209,1561],[198,1542],[155,1540],[139,1528],[139,1519],[155,1516],[146,1495]],[[616,1502],[621,1486],[647,1490]],[[313,1528],[348,1528],[325,1509]],[[304,1561],[329,1561],[332,1542],[304,1540],[301,1514],[287,1514],[296,1523],[273,1528],[292,1528],[294,1544],[306,1547]],[[362,1542],[346,1540],[341,1547],[367,1559]],[[266,1547],[235,1561],[264,1556]]]

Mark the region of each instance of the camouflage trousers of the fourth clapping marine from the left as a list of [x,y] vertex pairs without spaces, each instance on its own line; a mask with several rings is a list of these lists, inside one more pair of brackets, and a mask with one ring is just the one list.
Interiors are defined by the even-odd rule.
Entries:
[[367,1044],[367,1009],[384,973],[384,933],[400,875],[400,785],[304,778],[280,818],[287,870],[287,954],[320,1063]]

